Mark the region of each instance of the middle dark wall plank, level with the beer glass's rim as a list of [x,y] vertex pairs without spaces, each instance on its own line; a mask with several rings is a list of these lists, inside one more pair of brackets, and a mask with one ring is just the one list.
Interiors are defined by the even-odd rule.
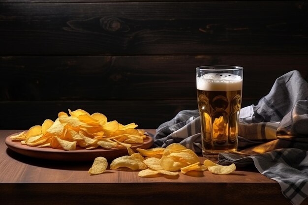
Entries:
[[244,101],[291,70],[308,79],[308,55],[1,56],[0,99],[194,100],[195,67],[211,64],[244,67]]

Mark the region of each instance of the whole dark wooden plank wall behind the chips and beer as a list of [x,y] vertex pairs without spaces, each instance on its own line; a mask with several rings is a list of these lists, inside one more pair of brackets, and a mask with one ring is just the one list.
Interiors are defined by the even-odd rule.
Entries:
[[0,129],[78,108],[156,128],[214,64],[244,67],[243,106],[307,79],[307,0],[0,0]]

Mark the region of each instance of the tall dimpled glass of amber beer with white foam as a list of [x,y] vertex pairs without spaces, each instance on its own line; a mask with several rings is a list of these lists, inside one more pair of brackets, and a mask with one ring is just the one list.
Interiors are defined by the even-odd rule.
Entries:
[[237,151],[243,67],[200,66],[196,77],[203,156]]

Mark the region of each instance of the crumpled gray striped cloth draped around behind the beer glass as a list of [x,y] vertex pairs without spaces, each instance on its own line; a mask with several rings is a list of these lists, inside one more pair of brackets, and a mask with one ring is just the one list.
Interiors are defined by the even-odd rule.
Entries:
[[[184,110],[161,124],[154,145],[179,143],[201,153],[198,110]],[[283,195],[299,205],[308,195],[308,83],[294,70],[277,78],[259,103],[241,109],[239,152],[219,154],[221,164],[254,164],[276,180]]]

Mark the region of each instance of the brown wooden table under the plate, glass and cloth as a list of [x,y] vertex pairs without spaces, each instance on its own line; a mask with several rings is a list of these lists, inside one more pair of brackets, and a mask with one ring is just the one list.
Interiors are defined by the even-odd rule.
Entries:
[[[8,149],[4,139],[18,131],[0,130],[1,205],[291,205],[278,183],[254,167],[226,176],[205,171],[141,178],[138,172],[115,170],[90,176],[92,162],[44,161]],[[306,199],[302,205],[307,204]]]

